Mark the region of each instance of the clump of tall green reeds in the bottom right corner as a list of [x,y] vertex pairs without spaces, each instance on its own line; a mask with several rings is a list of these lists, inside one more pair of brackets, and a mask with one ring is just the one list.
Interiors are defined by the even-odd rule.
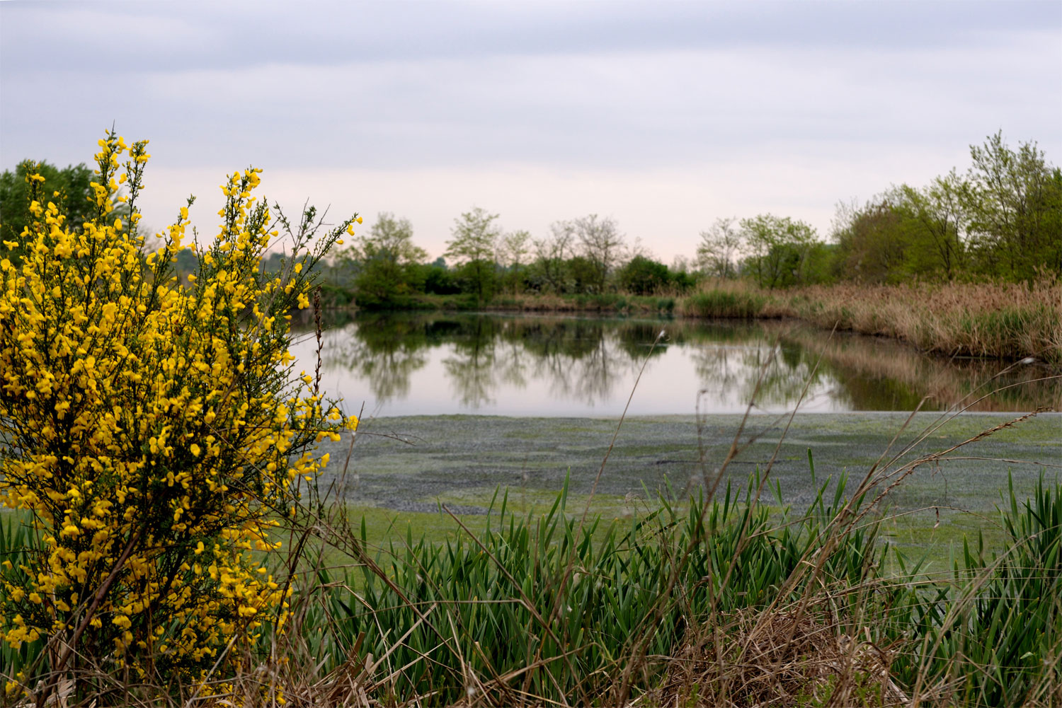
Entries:
[[[927,602],[912,633],[917,692],[960,705],[1062,705],[1062,485],[1041,478],[1000,508],[1007,548],[984,557],[963,543],[949,598]],[[912,667],[913,668],[913,667]]]

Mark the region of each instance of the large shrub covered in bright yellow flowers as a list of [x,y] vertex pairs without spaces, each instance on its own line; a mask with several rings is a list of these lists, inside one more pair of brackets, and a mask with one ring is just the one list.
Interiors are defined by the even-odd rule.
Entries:
[[[357,426],[288,351],[289,311],[309,306],[312,266],[356,218],[311,248],[307,211],[267,276],[279,234],[249,169],[221,187],[212,242],[184,243],[183,207],[148,248],[147,141],[112,132],[100,148],[92,220],[68,224],[30,175],[31,223],[0,249],[0,501],[38,540],[0,568],[0,637],[47,643],[53,670],[89,656],[198,676],[234,637],[282,625],[270,531],[327,464],[314,443]],[[200,264],[184,283],[182,248]]]

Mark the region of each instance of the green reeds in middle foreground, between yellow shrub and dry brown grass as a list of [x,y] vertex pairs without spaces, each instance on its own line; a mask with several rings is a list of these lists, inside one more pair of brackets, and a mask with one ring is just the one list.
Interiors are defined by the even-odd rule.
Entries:
[[[378,551],[375,565],[391,583],[369,566],[319,570],[320,599],[303,623],[325,631],[311,653],[331,668],[359,646],[375,657],[373,681],[398,701],[430,694],[445,704],[468,691],[502,703],[607,695],[644,635],[651,635],[647,656],[666,657],[690,623],[766,606],[783,587],[787,602],[809,591],[787,580],[813,555],[843,501],[843,480],[832,500],[820,487],[804,515],[757,503],[758,487],[754,477],[715,501],[661,498],[655,512],[596,518],[581,532],[567,514],[566,487],[538,517],[512,514],[502,494],[482,533],[441,545],[407,537]],[[873,582],[886,552],[876,534],[869,524],[846,535],[819,587]],[[680,582],[667,608],[647,626],[673,571]],[[638,688],[652,688],[664,664],[647,661]]]

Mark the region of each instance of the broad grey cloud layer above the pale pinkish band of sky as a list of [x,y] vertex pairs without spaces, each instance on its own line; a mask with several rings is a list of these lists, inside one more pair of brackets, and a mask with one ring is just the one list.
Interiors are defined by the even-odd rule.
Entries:
[[999,127],[1056,156],[1059,7],[0,3],[0,157],[82,161],[113,121],[185,167],[810,162]]

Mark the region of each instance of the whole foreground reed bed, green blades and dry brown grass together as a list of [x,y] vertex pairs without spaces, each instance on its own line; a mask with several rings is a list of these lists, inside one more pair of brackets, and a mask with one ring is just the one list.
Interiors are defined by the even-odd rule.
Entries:
[[242,698],[286,686],[306,706],[1058,705],[1058,484],[1024,504],[1011,490],[1006,552],[975,541],[928,577],[878,538],[870,496],[842,481],[783,512],[757,500],[761,482],[605,528],[581,525],[562,493],[539,517],[501,496],[487,529],[445,543],[370,550],[347,529],[361,560],[299,576],[294,628],[276,638],[286,660],[240,676]]

